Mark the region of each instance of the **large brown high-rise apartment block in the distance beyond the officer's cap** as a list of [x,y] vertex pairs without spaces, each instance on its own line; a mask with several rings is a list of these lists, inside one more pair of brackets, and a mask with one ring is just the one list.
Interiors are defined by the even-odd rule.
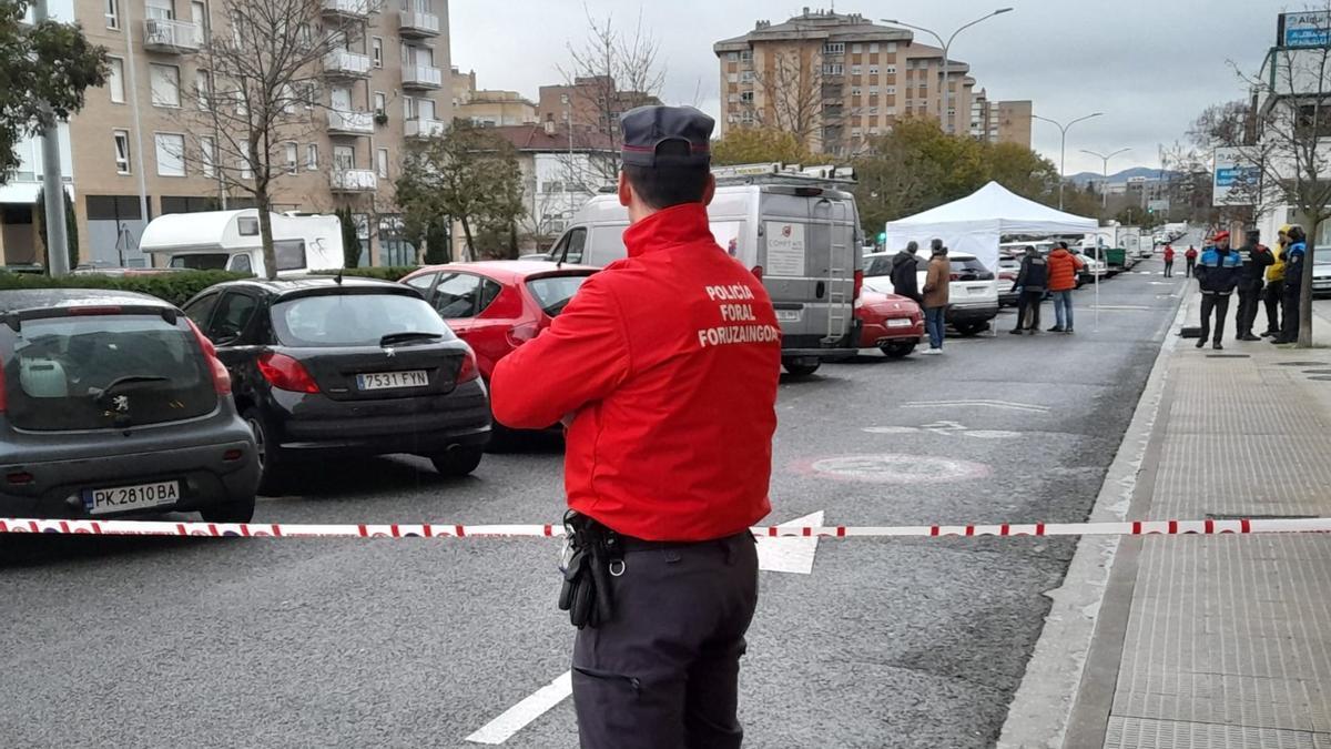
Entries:
[[736,127],[776,127],[813,151],[852,155],[901,117],[929,116],[948,132],[969,132],[970,67],[945,64],[942,49],[905,28],[804,8],[785,23],[757,21],[712,49],[723,136]]

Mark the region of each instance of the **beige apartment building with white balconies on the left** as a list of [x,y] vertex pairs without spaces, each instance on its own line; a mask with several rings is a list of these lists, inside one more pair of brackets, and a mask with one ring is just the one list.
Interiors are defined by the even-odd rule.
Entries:
[[[137,240],[153,216],[252,204],[206,157],[181,156],[186,137],[209,148],[206,136],[189,132],[182,108],[189,92],[212,85],[197,52],[214,29],[229,28],[222,3],[67,0],[52,3],[52,11],[77,20],[110,55],[108,84],[89,91],[87,107],[67,125],[64,167],[84,261],[146,265]],[[447,0],[322,0],[318,16],[302,20],[311,33],[357,33],[323,60],[321,96],[327,100],[309,107],[314,127],[285,144],[289,173],[274,183],[274,209],[350,207],[361,227],[362,263],[414,261],[393,181],[409,143],[442,132],[453,119]],[[13,187],[29,173],[36,169],[11,176]],[[27,192],[36,189],[16,196]],[[0,219],[19,223],[24,208],[7,203]],[[41,261],[23,236],[0,228],[5,263]]]

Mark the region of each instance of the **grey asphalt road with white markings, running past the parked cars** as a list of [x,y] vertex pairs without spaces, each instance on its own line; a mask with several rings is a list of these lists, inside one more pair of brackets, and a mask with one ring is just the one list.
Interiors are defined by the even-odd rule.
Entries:
[[[997,337],[949,340],[941,357],[872,352],[784,382],[769,520],[1083,520],[1178,304],[1182,279],[1147,275],[1161,267],[1106,281],[1098,329],[1086,288],[1075,336],[1009,336],[1005,312]],[[937,402],[958,400],[990,402]],[[487,456],[467,480],[413,458],[338,462],[301,496],[262,500],[257,520],[548,522],[560,485],[548,441]],[[474,746],[466,736],[568,668],[556,550],[0,538],[0,744]],[[1071,550],[823,541],[812,574],[761,573],[747,745],[990,745]],[[504,744],[575,745],[567,700]]]

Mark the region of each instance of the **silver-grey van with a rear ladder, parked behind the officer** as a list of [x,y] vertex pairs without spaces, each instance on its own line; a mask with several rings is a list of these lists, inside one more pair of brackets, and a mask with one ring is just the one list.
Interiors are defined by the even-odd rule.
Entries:
[[[781,184],[716,188],[712,235],[763,279],[781,323],[781,364],[812,374],[823,361],[855,356],[862,232],[855,196]],[[550,251],[562,263],[606,267],[624,257],[628,209],[614,193],[587,201]]]

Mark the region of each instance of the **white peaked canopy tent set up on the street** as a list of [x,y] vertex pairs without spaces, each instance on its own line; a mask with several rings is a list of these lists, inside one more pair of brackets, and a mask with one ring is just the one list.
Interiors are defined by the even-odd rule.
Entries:
[[1000,237],[1083,235],[1098,227],[1095,219],[1063,213],[989,183],[961,200],[889,221],[884,247],[901,249],[914,240],[920,253],[928,255],[929,241],[937,237],[949,251],[974,255],[990,269],[997,269]]

